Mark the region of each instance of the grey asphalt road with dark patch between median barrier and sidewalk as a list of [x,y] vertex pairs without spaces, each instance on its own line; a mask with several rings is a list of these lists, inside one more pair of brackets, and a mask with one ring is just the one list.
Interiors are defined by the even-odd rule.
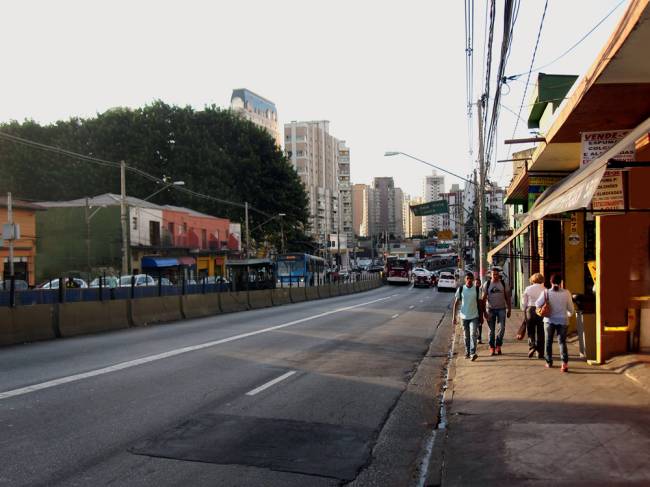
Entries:
[[450,300],[385,286],[0,349],[0,485],[359,484]]

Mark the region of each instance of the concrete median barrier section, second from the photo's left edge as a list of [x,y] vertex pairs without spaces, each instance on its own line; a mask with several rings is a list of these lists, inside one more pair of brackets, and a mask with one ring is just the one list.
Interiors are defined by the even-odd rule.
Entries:
[[127,301],[81,301],[59,305],[61,336],[89,335],[129,327]]

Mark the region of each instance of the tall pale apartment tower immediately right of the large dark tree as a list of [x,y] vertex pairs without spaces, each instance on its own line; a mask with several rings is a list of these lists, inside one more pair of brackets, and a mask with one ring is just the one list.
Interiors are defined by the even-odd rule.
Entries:
[[[287,158],[309,196],[308,232],[322,244],[338,229],[339,143],[326,120],[284,125]],[[349,155],[347,162],[349,172]]]

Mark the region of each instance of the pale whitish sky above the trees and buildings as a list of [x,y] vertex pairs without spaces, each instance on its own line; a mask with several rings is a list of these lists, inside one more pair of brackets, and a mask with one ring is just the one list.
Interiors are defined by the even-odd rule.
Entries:
[[[621,4],[544,69],[583,75],[628,3],[549,0],[535,66],[562,54]],[[486,5],[474,2],[475,99],[483,86]],[[528,71],[543,8],[544,0],[521,0],[506,75]],[[158,99],[227,107],[234,88],[248,88],[275,102],[281,123],[329,120],[331,134],[350,146],[354,183],[392,176],[419,196],[431,168],[384,157],[385,151],[461,175],[476,166],[469,154],[464,25],[463,0],[7,2],[0,16],[0,121],[50,123]],[[497,21],[493,72],[500,32]],[[533,82],[534,75],[523,119]],[[516,120],[508,109],[519,110],[525,86],[523,76],[502,91],[495,159],[512,150],[502,143]],[[520,123],[515,136],[527,135]],[[509,164],[493,164],[490,177],[498,184],[507,186],[511,175]],[[457,182],[446,178],[447,187]]]

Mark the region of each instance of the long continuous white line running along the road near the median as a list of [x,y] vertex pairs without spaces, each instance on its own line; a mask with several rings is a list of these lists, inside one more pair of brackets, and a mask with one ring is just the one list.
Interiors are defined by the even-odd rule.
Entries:
[[305,321],[315,320],[322,318],[324,316],[329,316],[335,313],[341,313],[343,311],[349,311],[355,308],[361,308],[362,306],[368,306],[370,304],[379,303],[380,301],[385,301],[392,297],[396,296],[395,294],[391,296],[386,296],[384,298],[373,299],[372,301],[366,301],[365,303],[355,304],[353,306],[345,306],[343,308],[334,309],[332,311],[326,311],[324,313],[319,313],[317,315],[307,316],[305,318],[300,318],[299,320],[290,321],[288,323],[282,323],[280,325],[270,326],[268,328],[263,328],[257,331],[251,331],[248,333],[241,333],[239,335],[233,335],[231,337],[222,338],[220,340],[214,340],[206,343],[200,343],[198,345],[191,345],[188,347],[177,348],[175,350],[170,350],[168,352],[157,353],[155,355],[149,355],[147,357],[142,357],[135,360],[129,360],[128,362],[121,362],[119,364],[111,365],[108,367],[102,367],[101,369],[90,370],[88,372],[83,372],[81,374],[69,375],[67,377],[61,377],[59,379],[53,379],[46,382],[41,382],[39,384],[33,384],[31,386],[21,387],[19,389],[12,389],[10,391],[0,392],[0,400],[8,399],[10,397],[21,396],[23,394],[30,394],[32,392],[40,391],[43,389],[49,389],[51,387],[60,386],[63,384],[69,384],[70,382],[77,382],[83,379],[89,379],[91,377],[97,377],[104,374],[110,374],[111,372],[117,372],[119,370],[130,369],[131,367],[137,367],[138,365],[144,365],[151,362],[156,362],[158,360],[163,360],[170,357],[175,357],[177,355],[182,355],[184,353],[194,352],[196,350],[202,350],[204,348],[214,347],[216,345],[221,345],[223,343],[234,342],[236,340],[242,340],[244,338],[249,338],[256,335],[261,335],[263,333],[269,333],[275,330],[281,330],[282,328],[287,328],[289,326],[298,325],[304,323]]

